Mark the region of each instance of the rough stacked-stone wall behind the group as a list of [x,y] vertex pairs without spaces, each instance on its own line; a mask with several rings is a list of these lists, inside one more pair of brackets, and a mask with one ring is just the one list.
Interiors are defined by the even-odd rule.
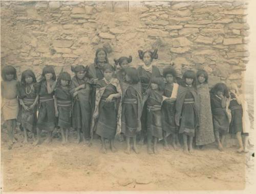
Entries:
[[104,46],[110,62],[158,48],[159,67],[204,68],[210,84],[241,85],[249,53],[244,1],[1,2],[1,63],[20,72],[44,65],[70,71],[93,63]]

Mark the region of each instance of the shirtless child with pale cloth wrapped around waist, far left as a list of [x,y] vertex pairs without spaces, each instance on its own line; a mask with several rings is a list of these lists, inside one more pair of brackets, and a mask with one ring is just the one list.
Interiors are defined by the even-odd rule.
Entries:
[[8,131],[8,149],[12,149],[12,144],[16,142],[14,137],[14,131],[16,128],[16,119],[18,115],[18,99],[17,99],[17,74],[16,69],[13,66],[7,65],[2,68],[1,82],[1,96],[2,103],[1,109],[4,120],[6,121]]

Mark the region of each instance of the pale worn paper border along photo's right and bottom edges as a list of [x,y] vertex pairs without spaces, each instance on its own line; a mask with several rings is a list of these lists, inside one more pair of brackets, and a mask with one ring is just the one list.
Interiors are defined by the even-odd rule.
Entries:
[[[58,0],[57,0],[58,1]],[[71,0],[72,1],[72,0]],[[98,0],[97,0],[98,1]],[[107,0],[108,1],[108,0]],[[178,0],[175,0],[177,2],[191,2],[189,0],[183,0],[183,1],[178,1]],[[206,0],[206,1],[210,1],[210,0]],[[215,0],[216,2],[217,1],[220,1],[221,0]],[[240,1],[243,1],[243,0],[240,0]],[[154,2],[154,1],[152,1]],[[201,1],[201,0],[198,0],[198,1],[195,1],[195,2],[205,2],[205,1]],[[232,1],[230,1],[232,2]],[[249,62],[246,64],[246,72],[247,71],[253,71],[253,80],[244,80],[245,82],[253,82],[255,84],[255,81],[256,81],[256,77],[255,77],[255,72],[256,72],[256,1],[254,0],[248,0],[248,1],[244,1],[244,2],[248,2],[248,15],[247,15],[247,23],[249,24],[250,26],[250,35],[249,35],[249,43],[248,43],[248,47],[249,47],[249,53],[250,53],[250,56],[249,56]],[[4,28],[4,26],[1,26],[1,28]],[[1,37],[2,38],[2,37]],[[246,72],[245,72],[245,75],[246,75]],[[253,84],[253,85],[254,85]],[[248,89],[252,89],[252,88],[246,88],[246,90]],[[256,112],[255,112],[255,94],[256,94],[256,88],[255,86],[253,87],[253,91],[254,91],[254,118],[255,118],[255,115],[256,115]],[[253,123],[253,128],[255,130],[255,122]],[[0,132],[1,133],[1,132]],[[255,132],[253,133],[255,134]],[[256,137],[253,138],[254,142],[253,144],[255,144],[255,139]],[[0,139],[1,141],[1,139]],[[255,146],[254,146],[254,151],[255,151]],[[29,154],[29,153],[28,153]],[[117,153],[118,154],[118,153]],[[1,154],[1,157],[2,157],[2,154]],[[3,191],[3,173],[1,173],[2,171],[2,167],[1,167],[1,171],[0,171],[0,175],[1,175],[1,180],[0,180],[0,185],[1,185],[1,192],[3,193],[20,193],[20,194],[23,194],[23,193],[163,193],[163,194],[169,194],[169,193],[177,193],[177,194],[183,194],[183,193],[191,193],[191,194],[200,194],[200,193],[218,193],[218,194],[224,194],[224,193],[232,193],[232,194],[237,194],[237,193],[255,193],[256,191],[256,172],[255,172],[255,159],[253,158],[253,161],[254,161],[254,166],[252,167],[253,168],[253,172],[250,172],[250,174],[248,174],[247,172],[247,169],[246,169],[246,172],[245,172],[245,177],[246,177],[246,186],[245,186],[245,189],[244,190],[184,190],[182,191],[182,188],[181,190],[169,190],[169,191],[69,191],[69,192],[50,192],[50,191],[45,191],[45,192],[34,192],[34,191],[30,191],[30,192],[4,192]],[[2,162],[2,158],[1,158],[1,162]],[[2,163],[1,163],[2,164]],[[1,165],[2,166],[2,165]],[[247,168],[247,166],[245,165],[245,167]],[[248,183],[247,180],[250,180],[250,184]],[[83,183],[83,184],[86,184],[86,183]]]

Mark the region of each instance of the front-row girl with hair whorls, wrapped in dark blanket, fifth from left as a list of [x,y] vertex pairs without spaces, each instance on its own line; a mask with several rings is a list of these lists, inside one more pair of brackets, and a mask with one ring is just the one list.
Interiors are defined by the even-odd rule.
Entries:
[[77,130],[77,143],[82,139],[84,142],[90,140],[91,126],[91,91],[89,79],[86,77],[87,68],[82,65],[71,66],[71,70],[75,72],[75,76],[71,80],[70,93],[73,96],[73,116],[72,125]]

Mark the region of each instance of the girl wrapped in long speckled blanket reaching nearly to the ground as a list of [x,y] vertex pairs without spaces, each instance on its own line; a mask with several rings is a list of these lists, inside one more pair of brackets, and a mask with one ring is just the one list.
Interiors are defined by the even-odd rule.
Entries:
[[215,141],[208,88],[208,74],[205,70],[200,69],[197,71],[197,81],[197,92],[200,99],[200,120],[199,127],[196,130],[196,144],[197,146],[203,146]]

